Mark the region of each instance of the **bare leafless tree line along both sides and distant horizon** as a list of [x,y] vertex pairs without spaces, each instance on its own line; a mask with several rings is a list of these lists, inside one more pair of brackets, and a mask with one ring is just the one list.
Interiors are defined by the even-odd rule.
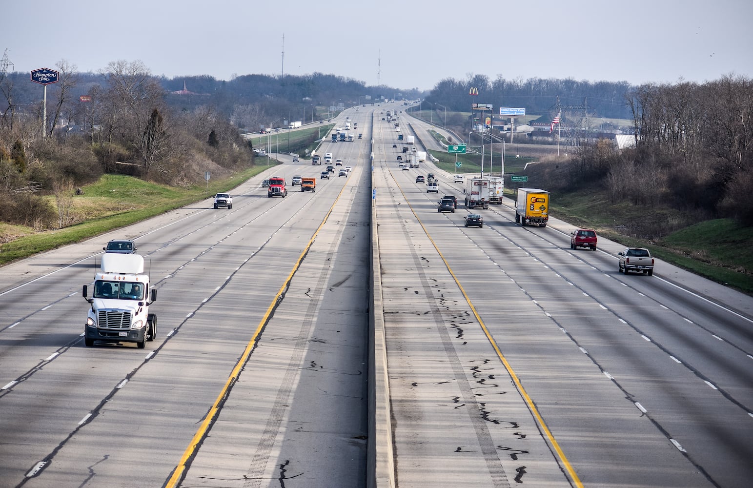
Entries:
[[[424,95],[322,73],[221,81],[157,77],[139,61],[81,73],[63,60],[56,69],[59,82],[47,87],[44,128],[41,86],[26,73],[0,79],[0,221],[55,227],[65,219],[55,212],[45,216],[40,194],[68,191],[105,172],[192,184],[208,165],[216,174],[253,164],[252,147],[240,133],[304,116],[319,120],[331,116],[330,106],[364,103],[367,96],[376,102]],[[190,93],[173,93],[183,87]],[[469,95],[471,88],[479,95]],[[615,201],[671,200],[751,222],[751,93],[751,80],[733,75],[705,84],[638,87],[468,75],[439,81],[425,99],[451,111],[468,111],[471,102],[524,107],[531,114],[551,113],[558,104],[584,105],[594,116],[632,120],[635,148],[584,142],[563,166],[571,177],[558,181],[597,181]]]

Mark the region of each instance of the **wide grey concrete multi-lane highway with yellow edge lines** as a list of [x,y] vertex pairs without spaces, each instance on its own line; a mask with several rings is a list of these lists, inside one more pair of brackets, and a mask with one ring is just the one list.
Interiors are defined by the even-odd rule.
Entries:
[[[463,227],[462,185],[398,168],[394,108],[333,119],[364,139],[322,144],[352,172],[316,193],[267,197],[326,167],[286,162],[233,209],[0,269],[3,486],[749,486],[753,299],[663,262],[617,273],[619,245],[569,249],[574,226],[521,227],[511,202]],[[81,286],[123,238],[157,340],[87,348]]]

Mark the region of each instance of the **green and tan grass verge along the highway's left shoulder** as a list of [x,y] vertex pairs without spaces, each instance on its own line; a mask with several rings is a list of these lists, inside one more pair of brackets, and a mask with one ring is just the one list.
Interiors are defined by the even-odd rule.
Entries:
[[78,224],[36,232],[31,227],[0,223],[0,242],[4,242],[0,244],[0,266],[230,191],[265,169],[267,166],[253,166],[229,178],[210,180],[209,188],[194,185],[184,189],[130,176],[103,175],[96,183],[82,187],[83,195],[74,197],[72,214],[83,220]]

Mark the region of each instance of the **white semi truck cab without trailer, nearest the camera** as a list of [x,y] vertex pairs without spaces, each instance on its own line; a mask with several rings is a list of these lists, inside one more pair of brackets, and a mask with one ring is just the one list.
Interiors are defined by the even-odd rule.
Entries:
[[149,287],[144,274],[144,257],[137,254],[105,252],[94,275],[89,313],[84,325],[84,343],[136,343],[144,349],[146,341],[157,337],[157,314],[149,313],[149,306],[157,300],[157,290]]

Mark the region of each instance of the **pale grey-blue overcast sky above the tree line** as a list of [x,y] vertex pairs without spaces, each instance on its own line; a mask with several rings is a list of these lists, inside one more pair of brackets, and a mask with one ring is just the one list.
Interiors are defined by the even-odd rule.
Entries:
[[753,77],[751,0],[9,0],[3,18],[14,72],[123,59],[168,78],[321,72],[420,90],[468,75]]

